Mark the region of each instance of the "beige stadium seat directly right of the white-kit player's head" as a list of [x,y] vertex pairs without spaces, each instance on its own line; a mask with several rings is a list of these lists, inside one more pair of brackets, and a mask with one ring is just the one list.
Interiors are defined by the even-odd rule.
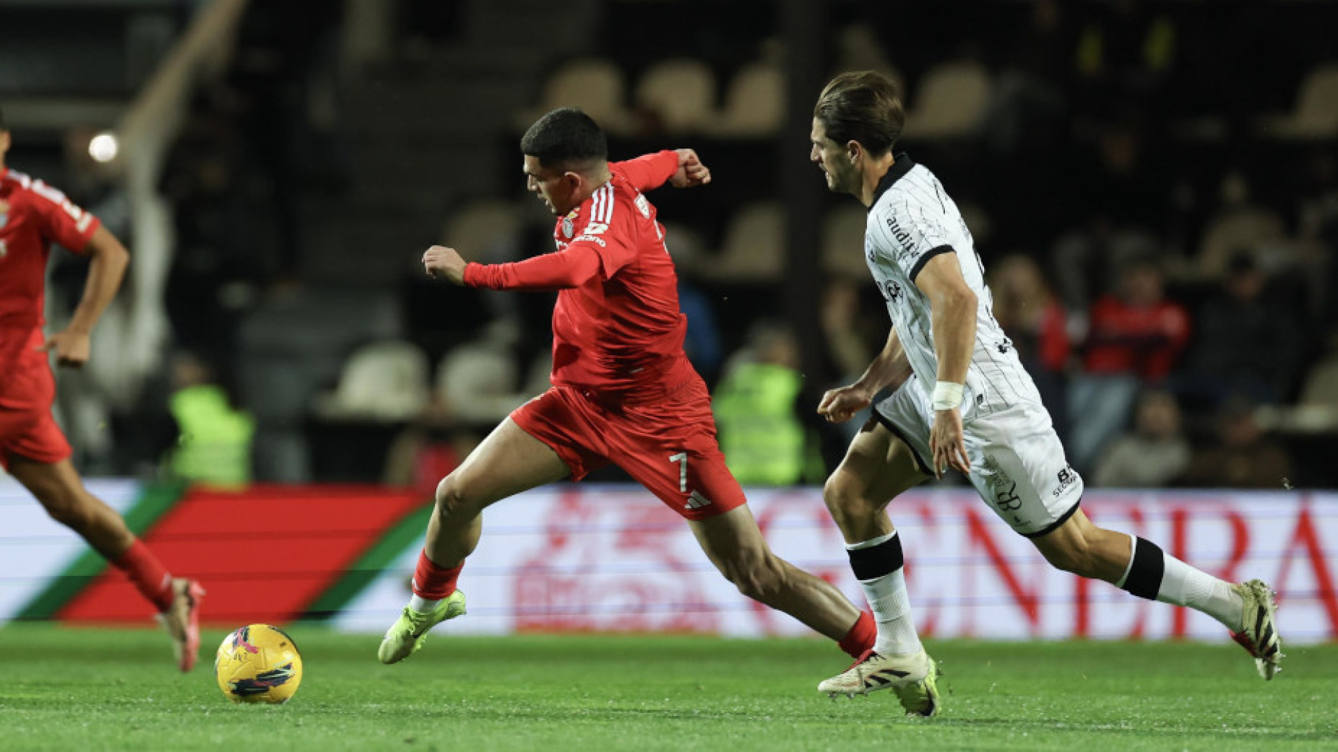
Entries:
[[985,66],[969,60],[930,68],[917,83],[915,106],[906,114],[907,138],[973,135],[990,99]]

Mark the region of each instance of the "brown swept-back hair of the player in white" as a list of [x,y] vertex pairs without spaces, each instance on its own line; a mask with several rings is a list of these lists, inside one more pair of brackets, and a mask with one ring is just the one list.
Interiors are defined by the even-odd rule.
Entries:
[[902,135],[906,110],[892,79],[878,71],[851,71],[831,80],[814,118],[836,143],[859,142],[870,154],[887,154]]

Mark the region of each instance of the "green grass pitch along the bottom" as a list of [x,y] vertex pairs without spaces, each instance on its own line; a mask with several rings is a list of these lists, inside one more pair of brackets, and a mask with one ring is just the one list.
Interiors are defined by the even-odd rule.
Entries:
[[828,700],[820,640],[455,638],[396,666],[376,637],[296,625],[288,705],[233,705],[150,630],[0,629],[0,749],[1338,749],[1338,646],[1263,682],[1234,645],[931,642],[938,719]]

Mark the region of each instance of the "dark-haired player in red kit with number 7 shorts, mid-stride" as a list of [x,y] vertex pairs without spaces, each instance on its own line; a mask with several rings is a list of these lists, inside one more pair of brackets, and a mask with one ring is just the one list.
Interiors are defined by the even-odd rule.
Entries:
[[516,264],[466,264],[450,248],[423,256],[456,285],[558,290],[553,388],[510,417],[436,490],[413,595],[377,650],[393,664],[427,630],[464,613],[456,578],[479,541],[479,514],[520,491],[579,480],[614,463],[682,515],[712,563],[745,595],[838,641],[858,657],[876,632],[830,583],[776,557],[716,444],[710,395],[682,352],[664,226],[642,195],[704,185],[692,150],[609,163],[603,131],[579,110],[554,110],[520,140],[529,189],[558,217],[558,250]]

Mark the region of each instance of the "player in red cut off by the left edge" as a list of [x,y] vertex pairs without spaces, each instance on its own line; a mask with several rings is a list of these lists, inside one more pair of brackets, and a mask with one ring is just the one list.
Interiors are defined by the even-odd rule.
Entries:
[[[51,416],[56,363],[79,368],[88,360],[88,337],[115,297],[130,254],[96,217],[59,190],[8,170],[11,135],[0,115],[0,466],[58,522],[82,535],[159,613],[190,670],[199,649],[199,583],[173,578],[126,527],[126,521],[90,494],[70,463],[70,442]],[[63,332],[43,336],[47,257],[58,242],[90,260],[83,300]]]

